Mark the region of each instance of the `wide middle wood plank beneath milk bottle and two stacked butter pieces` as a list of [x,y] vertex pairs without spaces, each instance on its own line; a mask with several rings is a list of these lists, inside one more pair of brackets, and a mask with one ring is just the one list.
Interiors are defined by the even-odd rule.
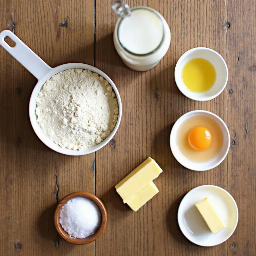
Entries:
[[[123,117],[112,144],[96,154],[96,194],[108,211],[108,226],[96,242],[96,255],[225,255],[228,242],[212,248],[190,243],[178,227],[177,210],[182,197],[198,185],[227,189],[227,160],[209,172],[192,172],[177,163],[169,146],[173,123],[190,110],[210,110],[227,121],[226,90],[215,100],[195,102],[174,83],[176,61],[188,49],[206,46],[226,56],[225,2],[127,1],[130,6],[155,8],[171,27],[168,53],[147,72],[125,67],[115,52],[112,32],[117,17],[110,11],[111,3],[96,0],[95,64],[116,83]],[[160,192],[140,211],[132,212],[114,186],[148,156],[164,170],[155,182]]]

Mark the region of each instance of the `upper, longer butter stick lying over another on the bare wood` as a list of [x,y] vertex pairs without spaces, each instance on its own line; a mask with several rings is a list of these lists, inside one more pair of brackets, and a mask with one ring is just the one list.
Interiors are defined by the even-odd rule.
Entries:
[[116,192],[122,197],[124,203],[126,203],[142,188],[145,188],[150,181],[156,179],[161,172],[163,170],[156,161],[148,157],[115,186]]

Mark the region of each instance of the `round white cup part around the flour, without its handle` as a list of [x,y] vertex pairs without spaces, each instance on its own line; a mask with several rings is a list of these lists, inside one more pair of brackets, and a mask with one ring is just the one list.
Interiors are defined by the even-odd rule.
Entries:
[[[36,121],[36,113],[35,113],[36,98],[38,96],[38,93],[41,91],[42,85],[45,83],[46,80],[50,79],[53,75],[59,73],[60,71],[68,69],[68,68],[88,69],[88,70],[91,70],[92,72],[98,73],[100,76],[103,76],[106,80],[108,80],[109,84],[113,87],[113,90],[116,94],[116,98],[118,100],[119,114],[118,114],[118,119],[117,119],[117,123],[116,123],[116,126],[115,126],[114,130],[109,134],[109,136],[105,140],[103,140],[98,145],[93,146],[92,148],[87,148],[87,149],[81,150],[81,151],[68,149],[68,148],[61,148],[58,144],[56,144],[55,142],[53,142],[52,140],[50,140],[48,137],[46,137],[44,135],[41,127],[39,126],[39,124]],[[92,67],[92,66],[87,65],[87,64],[83,64],[83,63],[68,63],[68,64],[58,66],[56,68],[52,68],[52,70],[50,72],[48,72],[43,78],[41,78],[38,81],[38,83],[36,84],[32,94],[31,94],[30,101],[29,101],[30,122],[31,122],[32,127],[33,127],[34,131],[36,132],[36,135],[38,136],[38,138],[40,140],[42,140],[42,142],[47,147],[51,148],[52,150],[54,150],[56,152],[59,152],[61,154],[69,155],[69,156],[87,155],[87,154],[93,153],[93,152],[99,150],[100,148],[104,147],[114,137],[114,135],[115,135],[115,133],[116,133],[118,127],[119,127],[119,124],[121,122],[121,116],[122,116],[122,103],[121,103],[120,94],[119,94],[119,92],[116,88],[116,85],[100,69]]]

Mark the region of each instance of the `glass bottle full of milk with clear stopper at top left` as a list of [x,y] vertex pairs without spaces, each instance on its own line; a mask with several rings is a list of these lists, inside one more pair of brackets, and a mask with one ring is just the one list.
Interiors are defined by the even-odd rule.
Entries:
[[123,1],[117,1],[112,9],[120,17],[114,30],[114,44],[124,64],[137,71],[154,68],[171,42],[170,28],[163,16],[145,6],[130,9]]

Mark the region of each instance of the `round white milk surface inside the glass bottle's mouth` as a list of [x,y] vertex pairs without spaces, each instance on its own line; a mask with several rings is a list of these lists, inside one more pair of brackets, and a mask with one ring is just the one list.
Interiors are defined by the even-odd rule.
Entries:
[[162,20],[155,12],[135,9],[119,26],[118,38],[125,49],[135,54],[156,50],[164,36]]

